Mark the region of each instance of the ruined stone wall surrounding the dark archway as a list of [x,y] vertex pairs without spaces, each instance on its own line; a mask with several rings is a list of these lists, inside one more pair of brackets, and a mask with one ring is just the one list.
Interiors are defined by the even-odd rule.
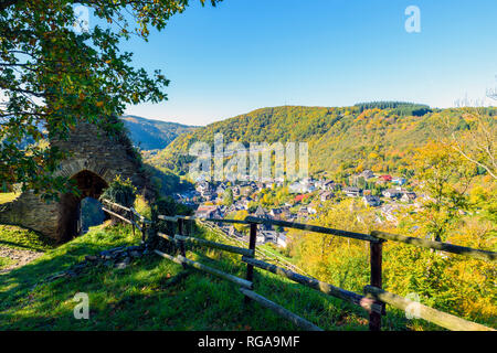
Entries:
[[71,152],[56,175],[74,178],[80,184],[83,182],[77,175],[93,175],[96,188],[82,184],[80,199],[61,195],[60,202],[52,203],[45,203],[32,192],[22,193],[17,200],[0,205],[0,223],[20,225],[64,242],[74,236],[73,225],[77,222],[74,217],[77,217],[76,207],[81,200],[98,197],[102,185],[109,184],[116,175],[129,178],[141,193],[147,194],[147,180],[130,151],[131,146],[107,137],[94,125],[80,124],[68,140],[52,140],[51,143]]

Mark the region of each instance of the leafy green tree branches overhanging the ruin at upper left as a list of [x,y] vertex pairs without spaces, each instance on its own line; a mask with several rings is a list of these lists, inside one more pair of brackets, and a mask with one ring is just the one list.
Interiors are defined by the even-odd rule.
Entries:
[[[204,0],[200,0],[202,3]],[[219,0],[211,0],[215,4]],[[74,31],[73,4],[107,28]],[[64,151],[41,140],[62,138],[80,121],[119,133],[126,105],[167,99],[169,81],[131,66],[119,43],[161,30],[188,0],[7,0],[0,3],[0,184],[22,183],[45,197],[71,189],[54,178]]]

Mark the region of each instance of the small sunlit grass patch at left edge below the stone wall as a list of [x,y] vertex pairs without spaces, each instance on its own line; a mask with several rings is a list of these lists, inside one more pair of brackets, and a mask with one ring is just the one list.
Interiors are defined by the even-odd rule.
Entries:
[[15,225],[0,224],[0,246],[21,250],[45,252],[54,247],[54,242],[33,231]]

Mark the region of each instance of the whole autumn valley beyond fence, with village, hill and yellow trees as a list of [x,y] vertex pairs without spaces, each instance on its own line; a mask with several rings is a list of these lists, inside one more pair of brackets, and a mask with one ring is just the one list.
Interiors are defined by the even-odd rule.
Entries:
[[[495,180],[441,135],[446,121],[461,136],[477,128],[478,120],[470,114],[463,108],[429,109],[399,103],[264,108],[180,135],[163,150],[145,154],[145,161],[183,180],[188,186],[170,195],[195,210],[199,217],[243,220],[252,215],[495,250]],[[487,128],[495,131],[497,109],[478,114],[489,117]],[[198,141],[212,147],[215,133],[223,133],[224,143],[237,141],[245,147],[251,142],[307,142],[309,175],[294,182],[191,179],[188,170],[195,157],[189,148]],[[233,153],[224,154],[224,164],[233,158]],[[224,225],[221,229],[233,239],[247,240],[246,227]],[[367,252],[353,240],[269,226],[261,231],[257,244],[306,274],[348,290],[360,291],[361,278],[367,276]],[[466,314],[474,312],[476,318],[477,308],[485,308],[488,319],[496,317],[497,308],[488,301],[493,265],[394,245],[384,256],[384,288],[404,296],[415,291],[436,308],[463,314],[461,307],[444,299],[451,292],[465,302]],[[486,278],[480,282],[486,288],[483,297],[469,285],[476,278]]]

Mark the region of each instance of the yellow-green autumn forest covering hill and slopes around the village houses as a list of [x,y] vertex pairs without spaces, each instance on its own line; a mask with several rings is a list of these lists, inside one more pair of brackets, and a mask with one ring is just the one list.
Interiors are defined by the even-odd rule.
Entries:
[[[496,108],[431,109],[399,103],[264,108],[180,135],[146,161],[188,180],[189,147],[194,141],[212,146],[218,132],[224,141],[245,146],[306,141],[310,178],[381,195],[394,185],[357,176],[364,171],[391,174],[406,180],[402,189],[416,193],[416,202],[392,202],[394,220],[389,221],[359,197],[336,192],[334,199],[321,201],[317,191],[296,197],[285,183],[250,194],[248,210],[226,217],[243,218],[258,205],[272,210],[289,204],[292,212],[310,206],[315,213],[305,223],[361,233],[385,231],[495,252],[496,117]],[[226,194],[228,201],[222,201],[222,196],[205,204],[233,204],[241,197]],[[287,247],[279,252],[307,274],[356,291],[368,282],[367,244],[300,231],[289,231],[287,238]],[[496,275],[495,265],[464,256],[402,244],[388,244],[384,250],[387,290],[493,327]]]

